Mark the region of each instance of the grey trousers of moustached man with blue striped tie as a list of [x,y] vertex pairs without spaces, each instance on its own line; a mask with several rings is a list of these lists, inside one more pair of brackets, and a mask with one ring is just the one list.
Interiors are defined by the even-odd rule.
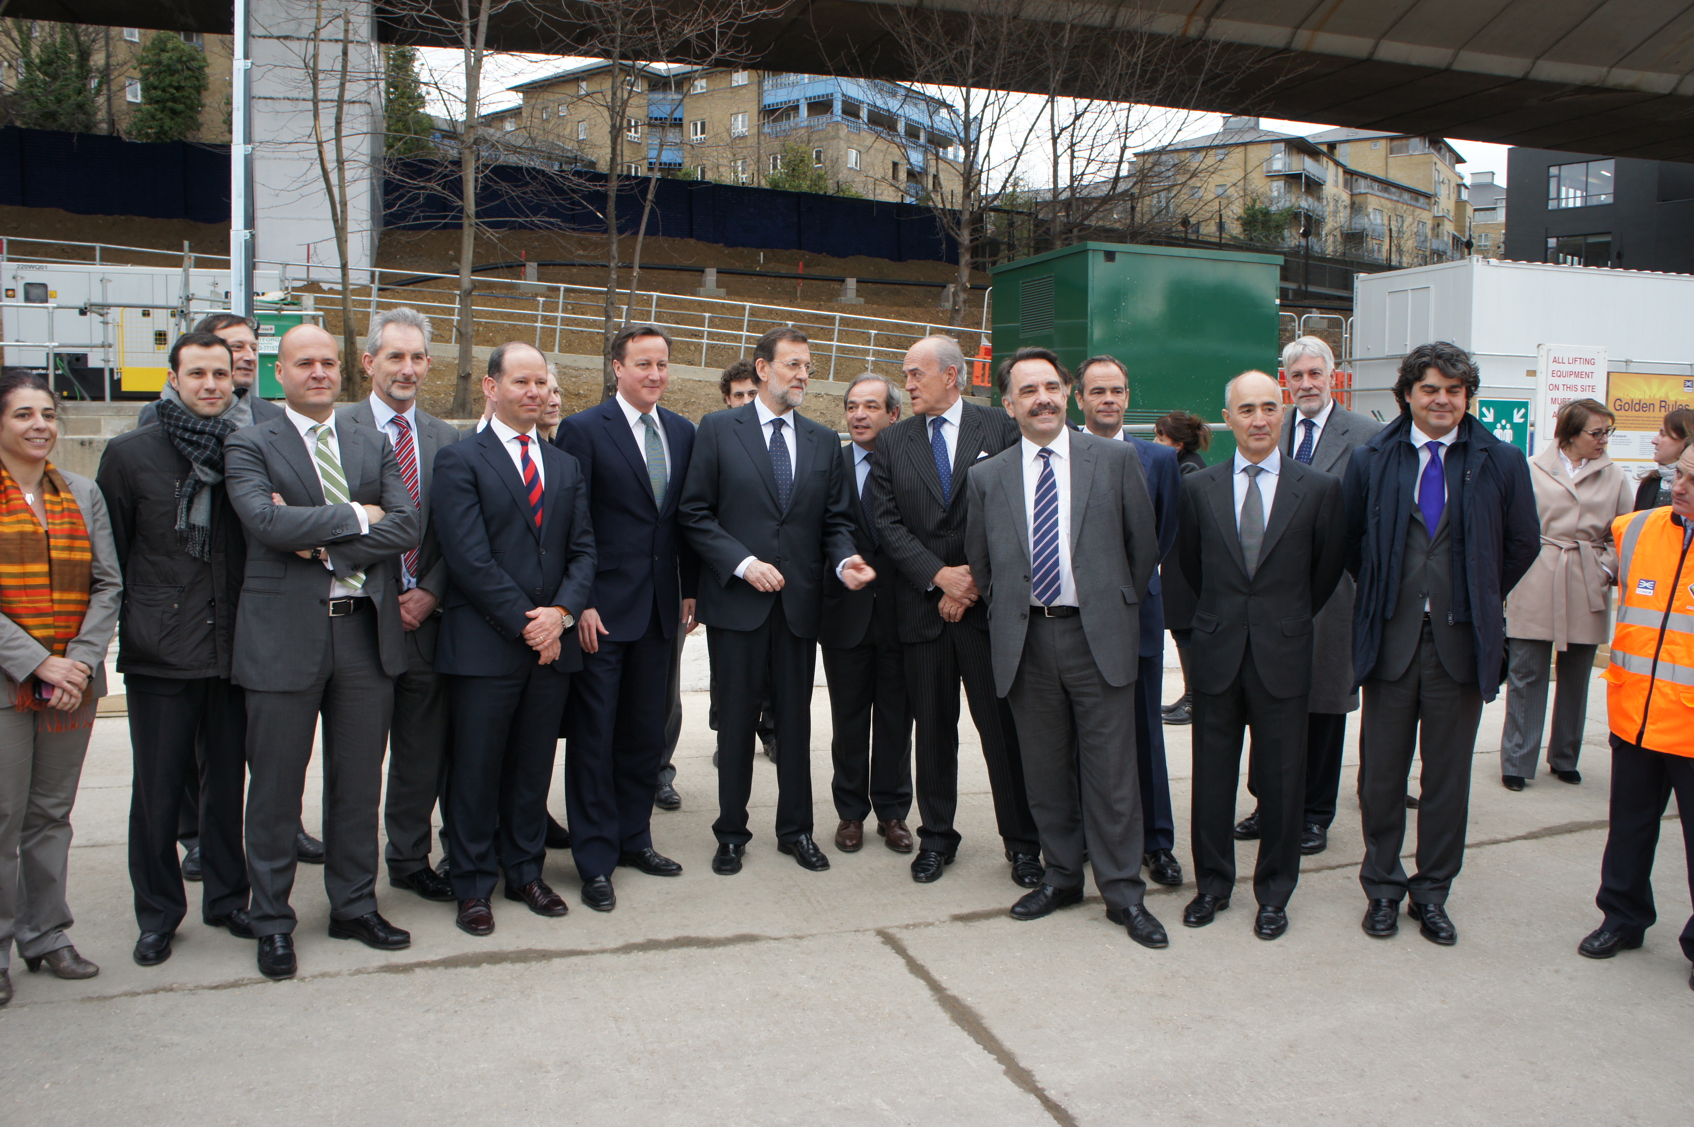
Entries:
[[1147,881],[1142,880],[1135,685],[1106,683],[1079,617],[1032,613],[1006,702],[1018,727],[1023,786],[1047,863],[1042,880],[1054,888],[1081,888],[1086,851],[1106,907],[1142,903]]

